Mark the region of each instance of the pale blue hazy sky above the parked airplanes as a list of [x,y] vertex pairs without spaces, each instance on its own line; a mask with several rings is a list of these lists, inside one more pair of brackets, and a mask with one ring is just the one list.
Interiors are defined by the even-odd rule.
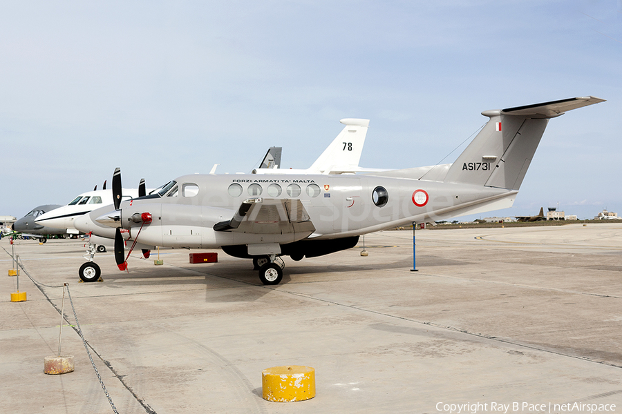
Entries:
[[[620,1],[23,1],[0,13],[0,215],[111,181],[307,168],[339,119],[361,166],[436,164],[482,110],[593,95],[552,119],[512,208],[622,215]],[[466,144],[465,144],[466,145]],[[451,162],[462,146],[444,162]],[[135,183],[135,184],[133,184]]]

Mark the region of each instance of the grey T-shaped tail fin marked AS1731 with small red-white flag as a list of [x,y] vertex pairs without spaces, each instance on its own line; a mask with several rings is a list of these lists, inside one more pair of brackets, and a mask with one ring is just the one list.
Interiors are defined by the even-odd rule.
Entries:
[[603,101],[580,97],[482,112],[490,120],[451,165],[444,181],[518,190],[549,119]]

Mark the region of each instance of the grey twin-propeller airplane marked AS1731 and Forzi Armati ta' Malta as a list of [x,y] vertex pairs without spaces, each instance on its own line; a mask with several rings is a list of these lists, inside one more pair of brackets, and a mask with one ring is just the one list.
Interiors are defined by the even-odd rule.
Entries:
[[[122,270],[127,239],[263,259],[261,282],[279,284],[279,256],[317,257],[352,248],[366,233],[510,207],[549,119],[602,101],[579,97],[484,111],[489,121],[453,164],[366,175],[185,175],[131,201],[122,201],[117,169],[114,210],[93,210],[75,226],[114,237]],[[85,281],[99,276],[94,262],[80,270]]]

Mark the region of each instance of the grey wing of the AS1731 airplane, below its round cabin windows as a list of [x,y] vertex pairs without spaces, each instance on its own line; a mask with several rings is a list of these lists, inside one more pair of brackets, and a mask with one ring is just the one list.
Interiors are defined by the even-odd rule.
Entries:
[[289,233],[308,233],[315,226],[297,199],[256,198],[243,201],[234,217],[214,225],[216,231],[238,233],[283,235]]

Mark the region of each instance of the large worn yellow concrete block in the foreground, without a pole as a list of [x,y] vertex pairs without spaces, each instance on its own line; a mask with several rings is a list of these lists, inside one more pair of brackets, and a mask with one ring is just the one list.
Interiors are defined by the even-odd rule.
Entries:
[[315,369],[310,366],[274,366],[261,373],[263,399],[274,402],[315,397]]

